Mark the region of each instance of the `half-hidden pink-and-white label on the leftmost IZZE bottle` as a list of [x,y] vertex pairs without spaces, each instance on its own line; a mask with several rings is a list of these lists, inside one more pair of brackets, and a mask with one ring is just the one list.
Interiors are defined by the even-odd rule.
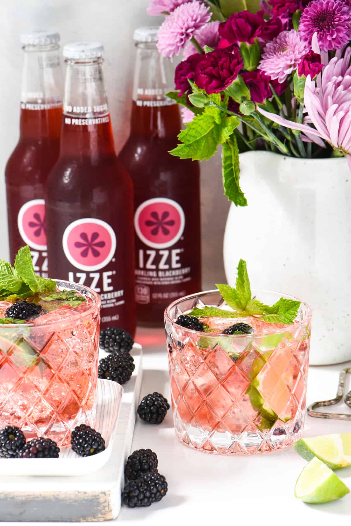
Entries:
[[22,205],[17,216],[17,226],[24,243],[31,248],[34,271],[47,278],[44,199],[33,199]]

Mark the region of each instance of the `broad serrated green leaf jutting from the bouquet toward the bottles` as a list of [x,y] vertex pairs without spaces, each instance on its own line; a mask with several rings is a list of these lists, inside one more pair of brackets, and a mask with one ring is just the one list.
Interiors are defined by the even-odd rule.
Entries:
[[215,154],[218,144],[224,143],[238,124],[236,117],[225,117],[220,109],[206,106],[204,113],[180,131],[178,138],[183,144],[169,153],[182,159],[208,160]]

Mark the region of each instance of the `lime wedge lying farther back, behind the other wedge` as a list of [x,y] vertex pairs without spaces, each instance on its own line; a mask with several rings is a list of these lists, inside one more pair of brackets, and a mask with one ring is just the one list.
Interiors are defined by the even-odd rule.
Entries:
[[351,466],[351,433],[302,438],[296,442],[295,450],[306,460],[317,457],[330,469],[345,468]]

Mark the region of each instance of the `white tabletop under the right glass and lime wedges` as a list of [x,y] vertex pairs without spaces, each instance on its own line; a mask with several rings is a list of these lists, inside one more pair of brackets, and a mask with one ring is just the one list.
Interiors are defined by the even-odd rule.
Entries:
[[[141,397],[158,391],[170,401],[164,329],[138,329],[136,341],[143,346],[144,355]],[[334,398],[339,371],[347,365],[351,363],[311,367],[307,404]],[[348,378],[347,390],[349,386]],[[351,414],[344,403],[327,409]],[[305,436],[333,432],[351,432],[351,421],[306,417]],[[252,457],[226,457],[195,451],[175,438],[172,409],[159,426],[145,424],[137,418],[132,451],[139,448],[151,448],[157,453],[158,469],[167,479],[168,493],[161,502],[149,508],[123,506],[118,519],[112,521],[120,526],[139,523],[143,526],[168,526],[170,523],[187,526],[188,523],[210,522],[217,525],[223,520],[230,526],[299,526],[313,522],[323,526],[334,525],[336,521],[346,523],[351,515],[351,493],[336,502],[319,505],[305,504],[294,497],[295,481],[306,464],[294,449]],[[351,467],[337,474],[351,489]]]

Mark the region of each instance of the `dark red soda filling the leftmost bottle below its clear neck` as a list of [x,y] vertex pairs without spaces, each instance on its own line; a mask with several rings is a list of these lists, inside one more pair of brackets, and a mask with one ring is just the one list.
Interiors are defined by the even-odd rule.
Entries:
[[28,244],[35,271],[47,277],[44,186],[59,154],[62,105],[22,106],[21,135],[5,169],[10,260]]

